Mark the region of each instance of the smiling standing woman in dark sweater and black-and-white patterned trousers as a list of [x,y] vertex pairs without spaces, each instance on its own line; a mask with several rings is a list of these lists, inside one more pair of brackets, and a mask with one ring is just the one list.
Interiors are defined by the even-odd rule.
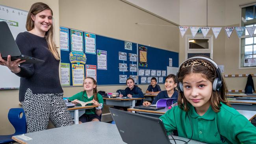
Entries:
[[[20,52],[42,59],[44,63],[22,64],[25,60],[7,61],[0,55],[0,65],[20,77],[19,101],[25,111],[28,133],[45,130],[49,119],[55,127],[74,124],[63,101],[59,81],[60,57],[53,38],[52,9],[42,2],[33,4],[26,29],[16,38]],[[19,66],[20,64],[20,66]]]

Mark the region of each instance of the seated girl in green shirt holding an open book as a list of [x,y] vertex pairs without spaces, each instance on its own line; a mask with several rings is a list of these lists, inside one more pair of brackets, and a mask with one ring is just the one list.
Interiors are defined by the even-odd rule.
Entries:
[[80,100],[83,102],[93,101],[94,103],[88,103],[87,105],[97,105],[98,107],[86,109],[85,114],[79,117],[79,124],[83,122],[100,121],[103,98],[97,93],[97,82],[94,78],[87,77],[83,80],[83,88],[84,91],[79,92],[68,99],[74,104],[77,104],[74,100]]

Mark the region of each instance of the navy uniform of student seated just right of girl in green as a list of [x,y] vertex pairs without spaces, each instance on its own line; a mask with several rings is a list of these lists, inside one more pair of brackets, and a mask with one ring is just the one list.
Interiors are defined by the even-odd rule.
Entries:
[[[129,87],[126,87],[126,89],[124,90],[124,97],[126,97],[128,94],[132,95],[132,98],[144,98],[144,94],[141,91],[141,89],[134,85],[134,87],[132,88],[132,90]],[[142,105],[143,100],[137,100],[137,102],[135,103],[135,106],[137,105]]]

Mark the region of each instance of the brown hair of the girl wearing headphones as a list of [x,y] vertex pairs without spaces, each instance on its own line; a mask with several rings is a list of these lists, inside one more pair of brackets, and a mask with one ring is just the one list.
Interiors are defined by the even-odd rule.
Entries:
[[[213,71],[204,65],[184,67],[179,71],[179,76],[178,76],[179,83],[182,83],[185,76],[187,76],[191,73],[202,74],[202,77],[205,79],[208,79],[209,81],[211,81],[211,83],[213,83],[215,78],[218,78],[216,68],[213,66],[213,64],[211,64],[210,62],[208,62],[204,59],[201,59],[201,60],[208,63],[211,66],[211,68],[213,69]],[[213,109],[213,111],[215,113],[219,112],[219,110],[220,110],[220,106],[221,106],[220,102],[231,107],[230,103],[228,102],[228,100],[226,98],[226,90],[227,90],[227,86],[226,86],[224,79],[222,78],[222,86],[221,86],[220,91],[214,91],[214,90],[211,91],[210,104],[211,104],[211,108]],[[179,92],[178,105],[184,111],[189,111],[189,102],[185,98],[184,92],[182,92],[182,91]]]

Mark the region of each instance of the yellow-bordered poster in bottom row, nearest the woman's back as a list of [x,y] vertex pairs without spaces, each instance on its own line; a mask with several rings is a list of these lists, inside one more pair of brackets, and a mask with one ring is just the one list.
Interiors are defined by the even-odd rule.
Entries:
[[60,73],[61,73],[61,86],[70,85],[70,65],[69,63],[60,64]]

